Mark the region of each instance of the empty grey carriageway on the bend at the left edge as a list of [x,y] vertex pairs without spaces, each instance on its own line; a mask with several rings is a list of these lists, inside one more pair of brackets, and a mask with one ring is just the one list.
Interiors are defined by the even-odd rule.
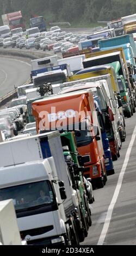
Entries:
[[21,86],[30,78],[30,64],[25,60],[0,58],[0,97]]

